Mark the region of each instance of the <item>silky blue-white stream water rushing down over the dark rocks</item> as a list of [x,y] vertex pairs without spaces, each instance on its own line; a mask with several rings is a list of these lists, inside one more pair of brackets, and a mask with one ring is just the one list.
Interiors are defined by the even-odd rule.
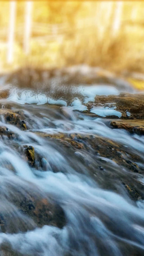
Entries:
[[[8,102],[1,100],[0,104]],[[5,220],[4,228],[0,225],[0,245],[10,247],[6,253],[2,249],[1,255],[144,255],[143,201],[133,201],[119,179],[113,178],[128,176],[143,185],[143,175],[131,173],[92,148],[73,149],[61,144],[60,139],[41,134],[106,138],[135,154],[141,159],[137,160],[141,167],[144,137],[112,129],[108,119],[73,112],[68,107],[9,104],[14,110],[24,111],[28,129],[22,131],[1,116],[0,126],[16,134],[12,140],[6,136],[0,140],[0,219]],[[35,148],[45,170],[38,163],[36,168],[28,165],[24,145]],[[99,169],[100,165],[103,168]],[[14,203],[19,195],[36,193],[62,207],[66,218],[62,228],[38,227]]]

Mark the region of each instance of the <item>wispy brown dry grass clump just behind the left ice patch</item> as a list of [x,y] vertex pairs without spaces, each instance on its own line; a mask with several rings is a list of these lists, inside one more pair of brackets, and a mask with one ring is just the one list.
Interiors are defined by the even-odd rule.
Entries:
[[[64,81],[64,77],[57,77],[55,71],[53,69],[42,71],[32,67],[22,68],[12,72],[7,82],[22,89],[31,89],[34,95],[35,93],[45,94],[54,100],[65,100],[68,104],[75,97],[83,100],[84,97],[78,92],[77,86],[73,85],[70,81]],[[45,72],[48,75],[48,79],[43,77]],[[23,90],[21,90],[22,92]]]

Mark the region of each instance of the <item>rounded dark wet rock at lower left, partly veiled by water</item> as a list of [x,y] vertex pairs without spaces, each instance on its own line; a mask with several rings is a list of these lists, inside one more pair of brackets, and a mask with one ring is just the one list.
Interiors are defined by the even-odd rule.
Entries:
[[[37,226],[53,225],[62,228],[66,224],[63,209],[48,198],[21,195],[16,198],[14,204],[1,202],[0,208],[0,232],[18,233],[34,230]],[[16,207],[15,207],[16,206]]]

